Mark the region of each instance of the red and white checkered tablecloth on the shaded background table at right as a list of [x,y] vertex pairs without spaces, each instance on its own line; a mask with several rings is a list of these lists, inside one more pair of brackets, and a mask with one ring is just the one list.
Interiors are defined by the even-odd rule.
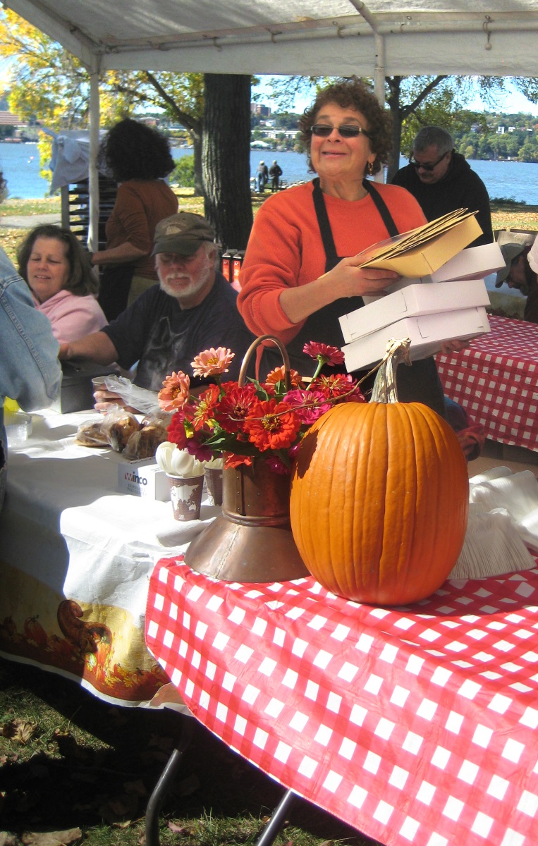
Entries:
[[491,332],[469,349],[437,355],[445,393],[483,424],[486,437],[538,451],[538,325],[489,321]]

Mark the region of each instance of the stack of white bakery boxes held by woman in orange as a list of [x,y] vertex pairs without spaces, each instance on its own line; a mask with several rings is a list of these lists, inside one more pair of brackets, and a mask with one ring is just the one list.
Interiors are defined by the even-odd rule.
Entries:
[[[417,266],[416,262],[414,266]],[[430,269],[418,263],[420,272]],[[436,354],[442,344],[490,331],[484,277],[504,266],[497,243],[468,247],[437,270],[403,276],[380,297],[340,317],[346,369],[366,370],[382,360],[390,338],[410,338],[411,360]]]

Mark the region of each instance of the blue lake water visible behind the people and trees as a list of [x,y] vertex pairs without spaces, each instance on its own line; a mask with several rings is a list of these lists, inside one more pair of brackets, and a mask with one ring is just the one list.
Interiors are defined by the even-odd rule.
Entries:
[[[184,148],[174,147],[172,152],[174,158],[192,155],[191,150]],[[313,174],[308,172],[305,155],[292,151],[251,151],[251,175],[254,176],[261,159],[270,167],[274,158],[283,169],[283,179],[288,183],[312,179]],[[402,157],[400,164],[406,163],[407,159]],[[510,198],[530,206],[538,206],[538,164],[473,160],[469,160],[469,164],[483,179],[491,198]],[[36,144],[0,142],[0,167],[3,168],[4,178],[8,180],[10,197],[32,199],[48,194],[47,179],[42,179],[39,173],[39,152]]]

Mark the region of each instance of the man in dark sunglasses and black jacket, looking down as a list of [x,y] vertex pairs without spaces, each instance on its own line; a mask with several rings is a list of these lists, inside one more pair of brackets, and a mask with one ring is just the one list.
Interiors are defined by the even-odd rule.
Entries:
[[486,185],[461,153],[453,148],[453,138],[440,126],[425,126],[413,142],[409,164],[400,168],[394,185],[406,188],[419,201],[428,220],[435,220],[454,209],[477,211],[482,233],[469,246],[491,244],[490,198]]

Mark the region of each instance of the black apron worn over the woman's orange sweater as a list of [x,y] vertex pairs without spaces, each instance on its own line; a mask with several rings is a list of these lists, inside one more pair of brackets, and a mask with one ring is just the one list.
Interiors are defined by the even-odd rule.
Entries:
[[[313,183],[312,199],[323,249],[325,250],[325,272],[327,273],[338,264],[338,261],[342,261],[343,256],[337,255],[319,178],[314,179]],[[393,216],[374,184],[369,179],[364,179],[363,187],[371,195],[371,199],[374,201],[376,209],[387,228],[389,237],[393,238],[394,235],[398,235],[398,228],[393,221]],[[324,305],[314,314],[309,315],[297,335],[286,345],[290,366],[303,376],[312,376],[316,370],[317,361],[310,360],[305,355],[303,352],[305,343],[319,341],[340,349],[343,344],[343,337],[338,318],[355,309],[362,308],[363,305],[365,303],[362,297],[344,297],[335,299],[332,303]],[[282,365],[282,356],[278,350],[275,347],[266,347],[261,358],[261,376],[265,376],[269,371],[280,365]],[[346,373],[347,371],[344,367],[336,368],[326,365],[321,372],[330,375],[338,372]],[[365,375],[365,372],[354,372],[354,378],[360,379]],[[367,382],[362,383],[363,393],[367,394],[371,391],[374,378],[375,376],[371,376]],[[398,398],[401,402],[424,403],[434,409],[438,415],[445,416],[442,384],[433,358],[414,361],[410,367],[406,365],[398,367],[397,387]]]

